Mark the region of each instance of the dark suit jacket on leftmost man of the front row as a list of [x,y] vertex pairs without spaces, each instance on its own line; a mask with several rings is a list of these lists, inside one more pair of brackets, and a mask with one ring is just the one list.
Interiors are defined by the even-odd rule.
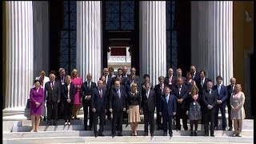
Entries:
[[98,87],[94,87],[91,95],[91,108],[95,108],[96,112],[99,112],[101,109],[105,110],[107,107],[106,103],[106,89],[102,88],[102,98],[98,92]]

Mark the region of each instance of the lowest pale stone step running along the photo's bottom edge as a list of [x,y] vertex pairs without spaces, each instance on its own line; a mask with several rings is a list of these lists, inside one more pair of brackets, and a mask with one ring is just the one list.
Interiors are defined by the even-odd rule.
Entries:
[[[40,134],[40,133],[37,133]],[[246,137],[226,137],[226,136],[215,136],[215,137],[204,137],[204,136],[175,136],[170,138],[169,136],[122,136],[122,137],[83,137],[78,136],[60,136],[51,137],[50,134],[46,136],[42,135],[35,136],[33,138],[5,138],[3,136],[3,143],[19,143],[19,144],[34,144],[36,143],[253,143],[253,138]]]

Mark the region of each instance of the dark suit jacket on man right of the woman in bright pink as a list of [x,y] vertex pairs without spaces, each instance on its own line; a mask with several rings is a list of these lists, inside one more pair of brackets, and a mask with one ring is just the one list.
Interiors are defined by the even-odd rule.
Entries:
[[90,88],[88,87],[88,81],[82,83],[80,90],[80,97],[82,98],[82,103],[90,102],[90,100],[85,99],[85,97],[86,95],[91,96],[95,87],[95,82],[90,82]]

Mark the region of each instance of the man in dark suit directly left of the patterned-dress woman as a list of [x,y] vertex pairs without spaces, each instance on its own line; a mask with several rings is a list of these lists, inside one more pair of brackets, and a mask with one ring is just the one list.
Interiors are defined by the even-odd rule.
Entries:
[[183,84],[182,78],[178,78],[176,82],[177,84],[173,86],[173,94],[177,102],[176,130],[181,130],[181,118],[184,130],[188,130],[186,115],[186,98],[188,98],[188,88]]

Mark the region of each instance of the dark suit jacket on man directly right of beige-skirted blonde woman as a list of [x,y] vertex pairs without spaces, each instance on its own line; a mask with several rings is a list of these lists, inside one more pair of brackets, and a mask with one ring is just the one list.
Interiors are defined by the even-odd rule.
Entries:
[[156,107],[156,94],[154,90],[150,90],[149,98],[146,98],[146,93],[142,95],[142,110],[144,113],[154,113]]

